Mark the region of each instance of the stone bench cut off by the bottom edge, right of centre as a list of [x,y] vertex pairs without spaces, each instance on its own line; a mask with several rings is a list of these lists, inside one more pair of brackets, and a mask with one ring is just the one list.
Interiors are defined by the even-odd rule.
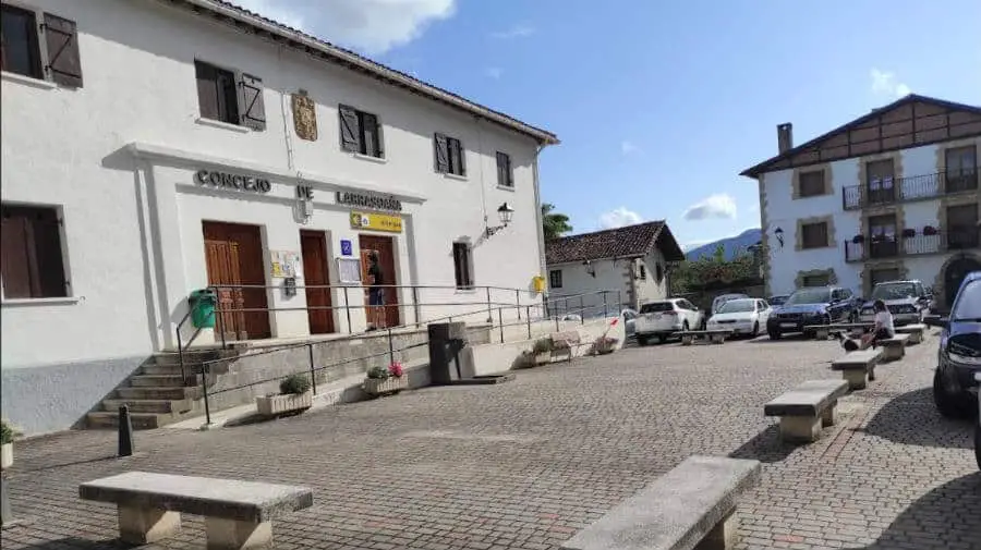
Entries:
[[760,480],[760,463],[689,456],[562,543],[562,550],[729,549],[736,501]]

